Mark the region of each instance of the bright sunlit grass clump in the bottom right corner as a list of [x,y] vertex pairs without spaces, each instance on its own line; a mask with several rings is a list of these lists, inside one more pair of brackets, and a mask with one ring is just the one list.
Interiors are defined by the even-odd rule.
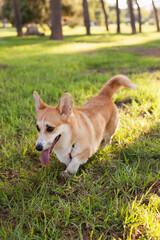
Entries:
[[129,207],[125,226],[129,227],[127,240],[134,237],[159,239],[160,236],[160,197],[156,194],[143,195]]

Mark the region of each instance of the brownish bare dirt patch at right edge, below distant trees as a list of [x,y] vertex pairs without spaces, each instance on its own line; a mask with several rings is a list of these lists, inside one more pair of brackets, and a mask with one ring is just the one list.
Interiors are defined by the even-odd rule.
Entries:
[[160,58],[160,48],[140,48],[140,47],[133,47],[133,48],[124,48],[124,52],[136,52],[138,56],[147,56],[147,57],[157,57]]

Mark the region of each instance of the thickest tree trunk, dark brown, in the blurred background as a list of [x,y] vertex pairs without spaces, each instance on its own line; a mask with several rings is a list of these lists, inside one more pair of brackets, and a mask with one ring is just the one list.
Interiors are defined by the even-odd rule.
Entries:
[[63,40],[62,34],[62,5],[61,0],[50,0],[51,5],[51,39]]

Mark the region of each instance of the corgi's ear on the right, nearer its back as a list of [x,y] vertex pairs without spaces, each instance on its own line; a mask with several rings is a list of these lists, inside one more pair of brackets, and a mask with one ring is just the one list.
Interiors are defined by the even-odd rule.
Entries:
[[70,93],[64,93],[60,98],[57,109],[62,117],[69,116],[73,111],[73,99]]

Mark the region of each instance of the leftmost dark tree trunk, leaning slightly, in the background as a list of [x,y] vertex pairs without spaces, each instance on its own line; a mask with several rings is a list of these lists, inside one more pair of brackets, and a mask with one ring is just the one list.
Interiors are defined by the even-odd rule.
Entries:
[[14,10],[14,19],[15,19],[15,25],[17,28],[17,36],[22,37],[22,20],[21,20],[21,13],[19,10],[18,0],[12,0],[13,3],[13,10]]

